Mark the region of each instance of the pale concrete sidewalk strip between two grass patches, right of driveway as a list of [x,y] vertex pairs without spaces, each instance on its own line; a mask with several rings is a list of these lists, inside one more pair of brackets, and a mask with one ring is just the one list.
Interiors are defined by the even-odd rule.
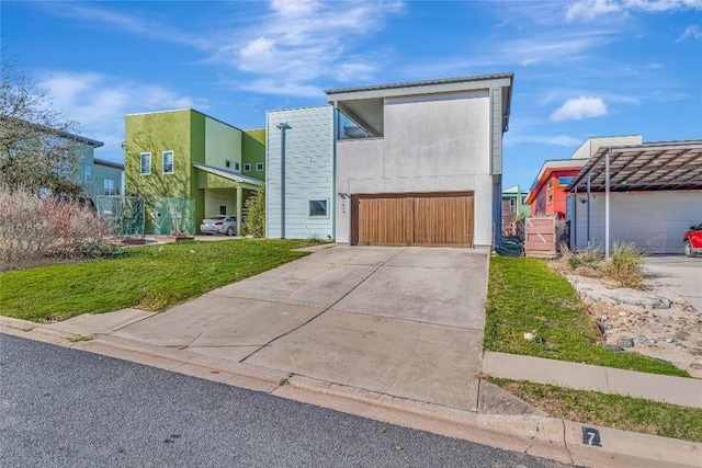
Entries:
[[[602,393],[619,393],[702,408],[702,380],[485,351],[482,372]],[[670,389],[675,388],[675,391]]]

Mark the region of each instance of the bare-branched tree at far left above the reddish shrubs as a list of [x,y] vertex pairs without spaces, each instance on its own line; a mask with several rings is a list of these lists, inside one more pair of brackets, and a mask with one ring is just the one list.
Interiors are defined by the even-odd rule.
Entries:
[[0,184],[9,190],[48,189],[63,197],[80,196],[82,186],[73,179],[81,157],[76,128],[35,82],[2,62]]

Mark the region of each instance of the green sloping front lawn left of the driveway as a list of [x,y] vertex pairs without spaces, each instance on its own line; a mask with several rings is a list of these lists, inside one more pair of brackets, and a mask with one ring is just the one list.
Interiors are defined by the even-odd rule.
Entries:
[[135,307],[162,311],[306,252],[310,241],[237,239],[123,249],[112,259],[0,273],[0,315],[65,320]]

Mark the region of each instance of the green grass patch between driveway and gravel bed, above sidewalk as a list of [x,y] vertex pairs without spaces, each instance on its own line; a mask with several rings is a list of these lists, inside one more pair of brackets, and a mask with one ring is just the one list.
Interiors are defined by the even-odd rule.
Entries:
[[672,364],[602,347],[577,292],[543,260],[492,255],[489,275],[486,350],[689,377]]

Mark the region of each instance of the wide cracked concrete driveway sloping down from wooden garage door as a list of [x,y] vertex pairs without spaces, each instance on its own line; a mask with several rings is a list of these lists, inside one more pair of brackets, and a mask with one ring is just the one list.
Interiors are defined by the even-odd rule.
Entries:
[[471,410],[488,254],[327,248],[112,334]]

